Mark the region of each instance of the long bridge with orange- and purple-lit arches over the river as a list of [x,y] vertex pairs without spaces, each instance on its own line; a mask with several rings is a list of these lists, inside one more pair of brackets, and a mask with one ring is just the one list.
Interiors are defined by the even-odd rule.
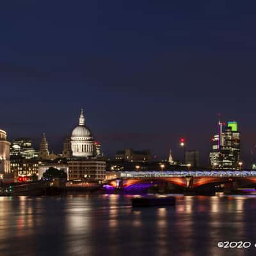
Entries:
[[[172,189],[202,189],[225,186],[237,189],[246,184],[255,184],[255,170],[200,170],[200,171],[152,171],[152,172],[116,172],[115,179],[108,180],[108,189],[148,189],[152,186],[162,186]],[[112,176],[113,177],[113,176]],[[171,189],[171,190],[172,190]]]

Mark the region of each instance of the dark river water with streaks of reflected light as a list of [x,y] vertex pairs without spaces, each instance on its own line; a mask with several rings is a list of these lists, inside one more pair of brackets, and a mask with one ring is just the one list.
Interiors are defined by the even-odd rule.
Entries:
[[122,195],[0,197],[0,255],[256,255],[256,197],[176,198],[132,209]]

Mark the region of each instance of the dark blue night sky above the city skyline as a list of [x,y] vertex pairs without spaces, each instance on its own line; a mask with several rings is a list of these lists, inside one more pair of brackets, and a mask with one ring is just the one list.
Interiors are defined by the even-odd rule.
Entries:
[[[108,155],[150,148],[207,163],[221,120],[237,120],[242,159],[256,144],[253,1],[2,1],[0,129],[45,132],[50,149],[86,124]],[[255,157],[256,158],[256,157]]]

